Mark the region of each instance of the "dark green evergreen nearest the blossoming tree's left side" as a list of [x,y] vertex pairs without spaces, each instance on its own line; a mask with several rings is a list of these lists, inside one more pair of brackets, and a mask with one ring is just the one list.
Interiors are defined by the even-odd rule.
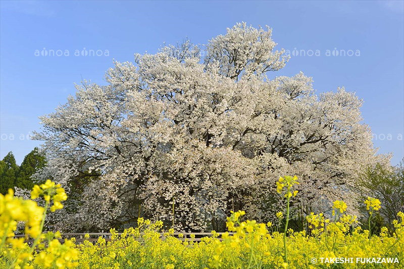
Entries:
[[16,174],[15,187],[28,190],[32,189],[32,187],[34,187],[34,182],[31,179],[31,175],[45,163],[45,156],[40,154],[38,148],[35,147],[35,149],[24,157]]

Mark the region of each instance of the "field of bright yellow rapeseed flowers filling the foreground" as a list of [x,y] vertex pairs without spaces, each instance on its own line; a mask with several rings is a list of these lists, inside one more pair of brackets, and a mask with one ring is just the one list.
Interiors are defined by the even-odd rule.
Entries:
[[[313,228],[305,231],[288,229],[289,198],[297,195],[293,186],[296,176],[281,177],[278,193],[285,192],[285,229],[279,232],[271,222],[243,220],[244,211],[230,212],[228,232],[194,241],[174,237],[170,229],[161,236],[163,222],[138,219],[136,228],[122,234],[112,229],[112,240],[99,238],[93,244],[75,239],[60,243],[60,233],[43,234],[47,209],[63,207],[64,189],[52,181],[35,186],[31,198],[43,197],[45,206],[32,200],[0,194],[0,267],[1,268],[404,268],[404,213],[393,221],[394,231],[382,228],[379,234],[355,226],[356,216],[344,214],[343,201],[333,203],[333,217],[311,213],[307,216]],[[52,206],[51,206],[52,204]],[[364,204],[370,216],[380,208],[380,201],[369,197]],[[25,234],[34,239],[13,238],[17,222],[25,222]],[[370,227],[371,218],[369,218]],[[230,232],[230,233],[229,233]],[[87,235],[86,238],[89,236]]]

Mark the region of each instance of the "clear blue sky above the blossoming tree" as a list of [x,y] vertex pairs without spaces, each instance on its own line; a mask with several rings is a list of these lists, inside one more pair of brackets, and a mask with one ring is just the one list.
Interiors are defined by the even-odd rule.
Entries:
[[[27,140],[30,131],[40,128],[38,116],[64,104],[75,93],[73,82],[79,83],[81,77],[105,83],[113,59],[133,61],[134,53],[155,53],[164,41],[175,43],[186,36],[194,43],[207,43],[241,21],[254,27],[269,25],[278,48],[291,54],[295,48],[309,54],[318,50],[320,56],[292,54],[286,67],[272,75],[303,71],[313,77],[318,93],[338,86],[355,91],[365,101],[364,122],[375,133],[379,153],[392,152],[392,164],[403,158],[402,1],[1,1],[0,5],[0,158],[13,151],[21,163],[40,145]],[[35,56],[44,48],[68,50],[69,56]],[[102,50],[103,55],[74,55],[84,48]],[[333,56],[335,48],[346,53],[359,50],[360,56]]]

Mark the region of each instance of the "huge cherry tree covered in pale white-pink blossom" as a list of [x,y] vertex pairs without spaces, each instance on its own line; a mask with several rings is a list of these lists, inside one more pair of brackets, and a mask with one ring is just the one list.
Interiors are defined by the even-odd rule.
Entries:
[[36,176],[69,195],[54,225],[100,231],[144,216],[171,227],[174,210],[178,231],[223,230],[230,210],[271,219],[284,174],[299,177],[295,208],[353,205],[361,169],[381,158],[362,101],[344,88],[317,96],[301,72],[271,79],[288,61],[271,34],[239,23],[204,47],[136,54],[40,117],[48,163]]

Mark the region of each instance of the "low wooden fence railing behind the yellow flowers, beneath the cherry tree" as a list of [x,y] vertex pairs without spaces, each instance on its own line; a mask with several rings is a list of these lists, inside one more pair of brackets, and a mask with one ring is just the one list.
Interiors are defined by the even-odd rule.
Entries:
[[[166,233],[159,233],[160,237],[162,240],[165,240],[164,235]],[[219,235],[218,239],[222,240],[221,235],[224,233],[216,233],[216,235]],[[229,235],[234,235],[235,233],[229,233]],[[84,238],[85,235],[88,235],[89,238]],[[122,233],[117,233],[116,235],[118,235],[119,237],[122,235]],[[139,237],[136,238],[139,241],[142,241],[142,235],[144,235],[143,233],[139,234]],[[182,238],[179,237],[179,235],[182,235]],[[191,238],[190,236],[194,235],[194,238]],[[130,236],[130,235],[128,235]],[[171,236],[174,236],[175,238],[185,241],[201,241],[201,239],[203,237],[212,237],[213,234],[212,233],[174,233]],[[26,235],[15,235],[15,238],[21,238],[21,237],[26,237]],[[65,241],[65,239],[71,239],[71,238],[75,238],[76,239],[76,243],[81,244],[84,241],[88,241],[88,242],[97,242],[99,237],[102,237],[103,239],[105,239],[106,242],[112,241],[112,234],[111,233],[66,233],[66,234],[61,234],[61,238],[59,239],[59,241],[61,243],[63,243]],[[26,239],[25,240],[26,243],[32,243],[34,242],[34,239]]]

